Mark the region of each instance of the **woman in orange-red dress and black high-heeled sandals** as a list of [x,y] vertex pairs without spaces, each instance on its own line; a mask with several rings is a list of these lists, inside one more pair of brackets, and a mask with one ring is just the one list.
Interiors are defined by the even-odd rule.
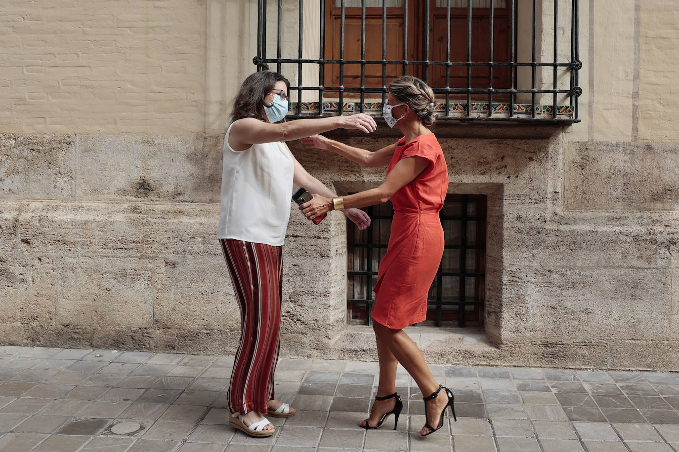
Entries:
[[[345,197],[326,198],[314,194],[299,207],[310,219],[333,209],[365,207],[391,200],[394,219],[389,245],[380,262],[372,319],[380,361],[380,384],[375,403],[363,428],[382,426],[394,415],[394,430],[403,409],[396,392],[398,363],[414,378],[424,397],[426,424],[422,436],[443,426],[443,413],[451,407],[453,394],[439,385],[424,356],[403,328],[424,321],[427,293],[443,255],[443,228],[439,211],[448,188],[448,170],[443,150],[430,130],[436,120],[434,94],[422,80],[404,75],[389,84],[388,103],[383,108],[390,127],[403,132],[396,144],[370,152],[315,135],[303,138],[308,148],[329,149],[361,165],[388,165],[378,188]],[[457,420],[457,419],[456,419]]]

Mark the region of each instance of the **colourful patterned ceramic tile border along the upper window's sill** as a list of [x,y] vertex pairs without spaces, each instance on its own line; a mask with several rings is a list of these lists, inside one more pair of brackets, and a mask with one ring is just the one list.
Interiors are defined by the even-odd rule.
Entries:
[[[342,102],[342,112],[352,113],[359,111],[360,102]],[[448,104],[449,118],[464,118],[467,116],[467,104],[459,102],[451,102]],[[492,104],[493,116],[500,118],[509,118],[509,104]],[[445,104],[435,104],[434,109],[440,112],[441,116],[445,115]],[[473,118],[487,118],[488,117],[488,102],[474,102],[471,104],[471,117]],[[514,104],[513,117],[516,118],[530,118],[532,115],[531,104]],[[553,118],[553,105],[536,105],[535,116],[540,119]],[[382,116],[382,102],[364,102],[363,111],[370,115]],[[318,102],[302,102],[302,115],[318,114]],[[329,115],[339,112],[339,102],[329,101],[323,102],[323,113]],[[297,114],[297,102],[290,102],[289,114]],[[572,119],[573,108],[570,105],[557,105],[557,119]]]

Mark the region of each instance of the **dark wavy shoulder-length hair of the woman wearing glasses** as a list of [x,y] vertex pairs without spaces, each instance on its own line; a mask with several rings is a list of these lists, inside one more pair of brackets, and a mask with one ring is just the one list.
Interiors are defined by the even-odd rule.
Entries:
[[[265,121],[264,98],[274,89],[277,81],[284,81],[287,87],[286,91],[290,92],[290,82],[279,73],[262,70],[249,75],[240,85],[236,94],[234,108],[231,111],[231,121],[242,118],[257,118]],[[285,119],[282,119],[282,121],[285,121]]]

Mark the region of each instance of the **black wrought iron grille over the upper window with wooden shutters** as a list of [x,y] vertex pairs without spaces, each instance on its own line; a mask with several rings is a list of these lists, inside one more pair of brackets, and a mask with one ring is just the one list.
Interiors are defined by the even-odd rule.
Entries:
[[[297,119],[302,117],[325,117],[329,115],[342,115],[344,113],[366,112],[375,117],[382,117],[382,104],[386,102],[386,94],[388,89],[388,79],[386,79],[387,68],[391,66],[401,66],[402,73],[414,73],[420,75],[424,81],[430,83],[430,74],[435,68],[443,68],[445,70],[445,86],[433,87],[433,91],[437,96],[436,108],[439,110],[439,119],[444,120],[459,120],[462,122],[471,121],[516,121],[516,122],[538,122],[538,123],[577,123],[579,122],[578,112],[578,98],[582,94],[582,89],[579,87],[579,69],[582,63],[579,60],[578,52],[578,11],[579,0],[526,0],[532,7],[530,16],[532,18],[532,30],[530,38],[532,59],[530,61],[517,60],[517,2],[521,0],[500,0],[505,2],[509,11],[509,58],[507,61],[494,60],[494,16],[496,9],[496,1],[485,1],[483,4],[488,5],[483,14],[488,16],[488,61],[475,61],[472,58],[473,50],[475,49],[475,42],[472,40],[473,35],[473,20],[475,15],[478,16],[481,8],[476,7],[484,0],[419,0],[422,3],[424,12],[424,30],[433,30],[430,28],[431,8],[438,5],[445,5],[445,60],[433,60],[430,58],[430,35],[431,33],[422,33],[424,39],[423,51],[420,53],[424,58],[421,60],[408,60],[409,52],[409,35],[408,35],[408,11],[409,1],[416,2],[418,0],[400,0],[403,5],[403,58],[400,60],[388,60],[386,58],[386,22],[387,12],[393,14],[393,8],[388,8],[386,0],[378,1],[381,6],[371,7],[371,10],[381,9],[382,13],[382,59],[367,60],[366,55],[366,1],[375,3],[374,0],[333,0],[333,7],[339,4],[340,11],[340,33],[339,37],[339,58],[327,58],[327,49],[325,48],[325,35],[327,32],[326,26],[326,9],[328,5],[326,0],[319,1],[320,16],[318,16],[318,35],[304,36],[304,0],[258,0],[258,20],[257,20],[257,56],[253,58],[253,63],[257,66],[257,70],[273,70],[271,64],[275,65],[275,69],[281,72],[282,65],[296,66],[295,77],[293,83],[296,85],[291,87],[293,93],[297,93],[297,100],[291,102],[289,118]],[[360,3],[361,11],[361,52],[360,58],[348,59],[345,58],[345,43],[347,35],[346,15],[348,6],[346,3],[350,1],[351,4]],[[553,20],[547,24],[544,19],[545,14],[539,17],[540,36],[553,35],[551,47],[552,57],[551,61],[543,61],[547,56],[542,55],[538,58],[541,49],[549,47],[545,43],[545,39],[538,42],[537,24],[538,24],[538,1],[540,2],[540,9],[547,7],[550,3],[553,6]],[[466,6],[466,61],[453,61],[450,58],[451,51],[451,14],[454,2],[457,5]],[[273,9],[270,3],[276,3],[276,58],[270,58],[268,47],[268,28],[272,19],[268,18],[268,14]],[[283,25],[283,5],[286,5],[287,14],[295,3],[297,3],[297,58],[283,58],[283,49],[285,47],[282,42],[284,33],[289,33],[293,27]],[[522,4],[526,5],[526,2]],[[562,9],[570,9],[570,27],[559,29],[559,5]],[[355,9],[355,8],[354,8]],[[460,9],[460,8],[458,8]],[[524,14],[526,12],[524,11]],[[315,18],[311,18],[315,20]],[[570,37],[566,37],[570,29]],[[561,32],[560,32],[561,30]],[[563,35],[562,39],[559,36]],[[356,37],[352,37],[356,38]],[[569,39],[570,38],[570,39]],[[564,40],[568,39],[566,43]],[[318,58],[305,58],[304,42],[305,40],[316,40],[318,44]],[[289,47],[290,39],[287,39],[286,45]],[[372,43],[371,43],[372,45]],[[411,45],[411,44],[410,44]],[[563,51],[566,45],[568,46],[568,56],[563,56]],[[559,50],[561,49],[561,50]],[[287,49],[286,53],[290,49]],[[560,54],[559,52],[562,52]],[[544,52],[543,52],[544,53]],[[308,57],[308,56],[307,56]],[[337,85],[325,85],[326,66],[339,66],[339,83]],[[318,85],[306,85],[303,80],[303,65],[317,65],[318,66]],[[346,85],[345,66],[360,65],[360,83],[356,86]],[[366,80],[366,66],[375,67],[375,65],[382,68],[382,86],[381,87],[367,87]],[[466,68],[466,86],[452,87],[450,83],[451,70],[455,68]],[[473,70],[475,68],[487,68],[488,83],[483,87],[473,87]],[[494,71],[498,72],[502,68],[509,68],[509,85],[505,87],[498,87],[494,85]],[[517,70],[521,68],[530,69],[530,87],[517,87]],[[551,68],[551,71],[550,71]],[[439,69],[440,70],[440,69]],[[506,70],[506,69],[505,69]],[[541,77],[538,75],[541,72]],[[559,71],[562,71],[559,74]],[[564,75],[565,71],[565,75]],[[547,73],[551,72],[551,77]],[[540,78],[538,80],[538,77]],[[294,80],[296,79],[296,80]],[[547,85],[551,79],[551,87]],[[565,80],[567,79],[567,80]],[[545,86],[543,86],[545,85]],[[333,99],[327,99],[328,94],[333,94]],[[348,102],[352,96],[359,98],[359,102]],[[366,102],[368,96],[370,102]],[[460,99],[460,96],[462,98]],[[478,102],[479,96],[483,96],[486,102]],[[519,102],[519,96],[530,96],[530,102]],[[382,98],[382,102],[375,102]],[[313,100],[307,102],[309,98]],[[336,98],[336,99],[334,99]],[[546,102],[549,98],[550,102]],[[317,99],[317,100],[316,100]],[[460,102],[460,100],[466,102]],[[539,102],[541,101],[541,102]]]

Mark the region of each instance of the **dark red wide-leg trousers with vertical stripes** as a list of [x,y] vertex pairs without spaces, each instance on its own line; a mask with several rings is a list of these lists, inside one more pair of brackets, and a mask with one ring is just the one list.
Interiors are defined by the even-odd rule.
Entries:
[[240,344],[229,386],[232,413],[267,413],[280,339],[283,247],[220,239],[240,306]]

